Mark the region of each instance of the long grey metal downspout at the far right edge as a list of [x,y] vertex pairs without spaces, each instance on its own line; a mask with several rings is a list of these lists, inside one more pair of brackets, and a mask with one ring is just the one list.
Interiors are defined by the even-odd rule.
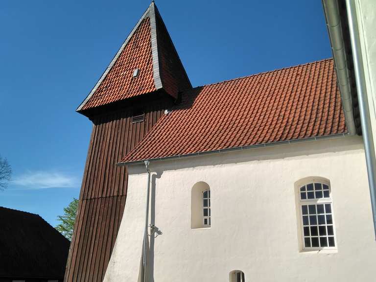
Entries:
[[346,0],[347,17],[349,20],[352,57],[354,61],[354,73],[356,81],[356,90],[358,92],[360,121],[363,133],[364,151],[366,155],[366,164],[368,172],[368,182],[370,186],[372,214],[374,219],[374,231],[376,236],[376,159],[375,146],[372,136],[372,127],[370,120],[370,109],[368,107],[367,91],[365,86],[363,61],[361,56],[360,42],[358,38],[358,26],[356,21],[355,3],[353,0]]

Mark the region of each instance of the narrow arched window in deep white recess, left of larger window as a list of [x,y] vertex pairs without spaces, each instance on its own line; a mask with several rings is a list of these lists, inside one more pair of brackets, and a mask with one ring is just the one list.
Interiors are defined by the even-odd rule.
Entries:
[[211,191],[205,182],[197,182],[192,187],[191,228],[211,227]]

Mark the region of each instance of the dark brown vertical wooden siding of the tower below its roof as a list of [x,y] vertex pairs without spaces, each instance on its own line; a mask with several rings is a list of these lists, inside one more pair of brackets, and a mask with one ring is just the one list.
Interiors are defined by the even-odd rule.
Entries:
[[145,108],[140,123],[132,123],[131,108],[93,118],[65,282],[103,281],[126,202],[127,167],[115,164],[163,115],[161,107]]

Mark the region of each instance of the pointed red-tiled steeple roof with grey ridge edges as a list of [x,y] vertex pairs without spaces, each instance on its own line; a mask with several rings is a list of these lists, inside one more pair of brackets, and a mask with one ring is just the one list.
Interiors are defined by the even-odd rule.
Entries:
[[153,2],[77,112],[163,90],[173,98],[192,88]]

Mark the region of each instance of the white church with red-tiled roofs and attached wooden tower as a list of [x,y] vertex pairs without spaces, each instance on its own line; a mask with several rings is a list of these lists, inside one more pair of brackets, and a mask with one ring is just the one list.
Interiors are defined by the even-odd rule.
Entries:
[[65,281],[375,281],[343,99],[333,59],[192,87],[152,2],[77,109],[94,126]]

